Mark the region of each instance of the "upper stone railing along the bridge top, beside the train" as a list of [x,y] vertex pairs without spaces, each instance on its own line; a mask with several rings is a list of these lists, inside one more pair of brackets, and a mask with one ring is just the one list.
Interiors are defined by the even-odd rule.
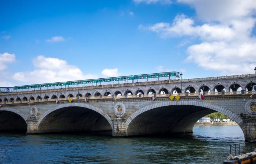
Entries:
[[[193,78],[193,79],[182,79],[182,82],[199,82],[199,81],[213,81],[213,80],[226,80],[226,79],[242,79],[242,78],[253,78],[255,74],[246,75],[231,75],[231,76],[219,76],[219,77],[207,77],[207,78]],[[33,93],[45,93],[45,92],[61,92],[61,91],[72,91],[72,90],[88,90],[88,89],[101,89],[101,88],[113,88],[113,87],[124,87],[124,86],[139,86],[139,85],[155,85],[155,84],[168,84],[168,83],[179,83],[180,80],[164,80],[164,81],[151,81],[151,82],[134,82],[125,84],[112,84],[112,85],[99,85],[99,86],[83,86],[74,88],[59,88],[59,89],[45,89],[45,90],[30,90],[30,91],[19,91],[12,93],[0,93],[0,95],[13,95],[13,94],[33,94]]]

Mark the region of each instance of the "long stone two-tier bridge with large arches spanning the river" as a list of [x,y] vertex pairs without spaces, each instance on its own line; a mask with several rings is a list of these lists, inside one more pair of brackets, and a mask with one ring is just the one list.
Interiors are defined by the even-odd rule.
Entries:
[[[237,122],[245,140],[255,140],[253,85],[255,75],[237,75],[184,79],[184,90],[180,81],[169,80],[4,93],[0,130],[111,132],[113,136],[189,133],[199,118],[221,112]],[[202,100],[200,92],[205,96]]]

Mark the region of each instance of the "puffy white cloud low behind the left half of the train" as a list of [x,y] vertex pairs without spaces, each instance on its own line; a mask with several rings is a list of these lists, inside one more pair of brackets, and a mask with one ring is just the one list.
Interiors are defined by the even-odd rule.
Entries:
[[77,66],[69,65],[66,60],[58,58],[46,58],[40,55],[33,60],[33,65],[34,71],[16,72],[12,78],[30,84],[98,78],[93,74],[84,75]]

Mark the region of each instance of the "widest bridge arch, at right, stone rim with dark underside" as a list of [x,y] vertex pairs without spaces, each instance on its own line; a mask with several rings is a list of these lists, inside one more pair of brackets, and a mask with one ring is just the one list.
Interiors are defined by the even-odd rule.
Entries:
[[167,101],[153,103],[133,113],[125,122],[126,135],[190,133],[197,120],[213,112],[229,116],[245,134],[242,119],[225,108],[200,101]]

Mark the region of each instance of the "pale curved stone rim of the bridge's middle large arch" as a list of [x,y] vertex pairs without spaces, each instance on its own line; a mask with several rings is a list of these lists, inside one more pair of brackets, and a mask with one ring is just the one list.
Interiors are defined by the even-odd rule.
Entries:
[[69,103],[69,104],[60,104],[60,105],[57,105],[57,106],[54,106],[53,108],[47,110],[40,118],[39,120],[37,121],[37,125],[39,126],[40,123],[42,122],[42,120],[44,120],[44,118],[54,112],[55,110],[58,110],[58,109],[61,109],[61,108],[67,108],[67,107],[82,107],[82,108],[87,108],[87,109],[90,109],[90,110],[93,110],[97,113],[99,113],[101,116],[103,116],[108,122],[109,122],[109,125],[111,126],[112,128],[112,131],[113,131],[113,122],[111,120],[111,118],[109,117],[109,115],[105,112],[103,112],[101,109],[95,107],[95,106],[92,106],[92,105],[88,105],[88,104],[84,104],[84,103]]

